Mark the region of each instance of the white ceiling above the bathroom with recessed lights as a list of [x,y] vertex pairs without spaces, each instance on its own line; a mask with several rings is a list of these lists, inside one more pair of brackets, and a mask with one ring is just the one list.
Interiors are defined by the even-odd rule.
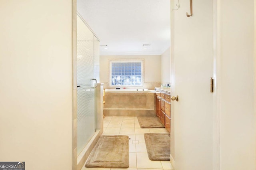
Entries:
[[161,55],[170,47],[170,0],[77,0],[77,11],[108,45],[100,55]]

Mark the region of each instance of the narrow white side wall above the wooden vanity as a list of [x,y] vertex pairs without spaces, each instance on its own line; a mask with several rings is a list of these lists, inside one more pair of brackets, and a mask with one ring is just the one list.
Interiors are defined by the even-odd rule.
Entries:
[[170,47],[161,55],[161,82],[170,83]]

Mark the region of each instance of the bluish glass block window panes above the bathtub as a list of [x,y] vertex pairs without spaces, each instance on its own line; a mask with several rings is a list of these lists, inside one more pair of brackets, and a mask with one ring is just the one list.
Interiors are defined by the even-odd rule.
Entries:
[[110,85],[142,86],[142,61],[110,61]]

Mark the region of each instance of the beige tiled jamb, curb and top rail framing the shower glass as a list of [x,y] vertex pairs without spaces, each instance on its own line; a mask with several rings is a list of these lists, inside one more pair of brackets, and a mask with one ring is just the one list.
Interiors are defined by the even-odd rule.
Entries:
[[[98,98],[98,100],[95,101],[95,103],[98,103],[97,105],[101,105],[100,108],[102,107],[102,113],[100,111],[100,109],[96,109],[97,113],[96,117],[97,117],[97,123],[95,124],[95,128],[96,128],[96,132],[94,133],[94,136],[92,137],[92,139],[88,142],[89,146],[85,147],[85,151],[83,150],[82,153],[77,156],[77,2],[76,0],[73,0],[73,11],[72,11],[72,21],[73,21],[73,34],[72,34],[72,40],[73,40],[73,44],[72,44],[72,56],[73,56],[73,109],[72,109],[72,121],[73,121],[73,127],[72,127],[72,131],[73,131],[73,146],[72,146],[72,170],[77,170],[77,169],[81,169],[82,166],[84,165],[86,159],[88,158],[91,150],[93,149],[93,147],[95,146],[96,142],[98,141],[98,139],[100,138],[102,132],[103,132],[103,117],[101,117],[103,115],[103,104],[99,103],[101,100],[103,101],[103,84],[98,84],[98,87],[96,89],[96,98]],[[79,14],[78,14],[79,15]],[[82,18],[82,17],[81,17]],[[86,22],[84,21],[84,23],[86,24]],[[86,24],[86,26],[88,26],[88,24]],[[88,26],[88,28],[92,31],[92,29]],[[94,39],[96,38],[98,41],[100,41],[100,39],[96,36],[96,34],[92,31],[92,33],[94,34]]]

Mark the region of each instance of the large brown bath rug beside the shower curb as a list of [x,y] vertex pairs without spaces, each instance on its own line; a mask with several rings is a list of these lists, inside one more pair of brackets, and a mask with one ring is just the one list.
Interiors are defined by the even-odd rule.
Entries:
[[128,168],[129,136],[101,136],[92,150],[85,167]]

